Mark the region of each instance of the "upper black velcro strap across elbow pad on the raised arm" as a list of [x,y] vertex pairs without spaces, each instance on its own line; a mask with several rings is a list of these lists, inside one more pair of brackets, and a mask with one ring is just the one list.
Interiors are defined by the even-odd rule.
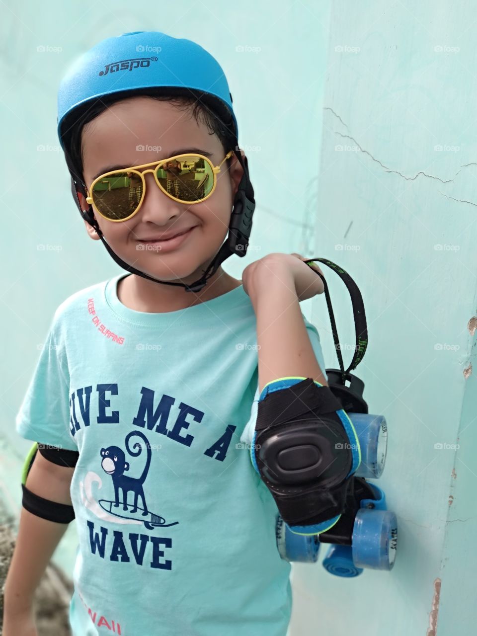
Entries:
[[[272,394],[273,399],[270,399]],[[340,409],[342,405],[329,387],[317,387],[312,378],[306,378],[287,389],[271,391],[261,399],[255,429],[261,431],[294,418],[317,413],[326,415]]]

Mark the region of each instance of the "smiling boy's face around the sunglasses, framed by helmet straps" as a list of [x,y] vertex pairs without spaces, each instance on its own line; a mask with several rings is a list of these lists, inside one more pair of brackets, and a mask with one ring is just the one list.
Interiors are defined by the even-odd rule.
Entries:
[[[190,110],[148,97],[116,102],[86,124],[81,137],[83,174],[88,189],[94,177],[107,172],[109,166],[142,165],[189,148],[211,153],[214,166],[226,155],[217,135],[209,132],[201,118],[197,123]],[[93,212],[106,242],[121,259],[158,279],[193,282],[223,244],[242,174],[242,166],[232,155],[232,167],[227,170],[227,162],[223,163],[211,197],[202,203],[187,204],[167,197],[149,172],[144,176],[146,195],[141,209],[131,219],[114,223],[100,216],[94,206]],[[83,197],[80,202],[86,210],[88,204]],[[99,240],[86,221],[85,226],[90,237]],[[188,228],[193,230],[172,251],[161,252],[160,246],[144,249],[139,242]]]

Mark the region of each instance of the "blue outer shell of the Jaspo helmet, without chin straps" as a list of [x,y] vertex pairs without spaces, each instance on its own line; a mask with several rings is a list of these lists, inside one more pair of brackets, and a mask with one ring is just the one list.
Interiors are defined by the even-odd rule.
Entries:
[[202,46],[159,31],[134,31],[107,38],[69,67],[58,91],[58,136],[62,148],[66,121],[88,102],[111,95],[157,88],[189,88],[231,123],[238,137],[237,119],[225,74]]

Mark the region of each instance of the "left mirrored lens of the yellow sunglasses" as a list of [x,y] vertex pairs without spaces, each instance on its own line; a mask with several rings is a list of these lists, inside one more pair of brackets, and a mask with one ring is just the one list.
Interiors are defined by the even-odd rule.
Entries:
[[142,197],[142,180],[134,172],[114,172],[100,179],[93,188],[93,201],[107,219],[128,218]]

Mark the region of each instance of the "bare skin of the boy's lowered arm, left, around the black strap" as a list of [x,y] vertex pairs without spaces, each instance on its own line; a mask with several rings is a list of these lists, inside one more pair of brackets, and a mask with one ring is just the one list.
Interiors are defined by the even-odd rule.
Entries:
[[[68,481],[47,473],[39,466],[38,457],[25,486],[40,497],[71,505]],[[5,582],[5,614],[13,616],[31,609],[36,588],[67,527],[67,523],[51,522],[21,508],[17,541]]]

